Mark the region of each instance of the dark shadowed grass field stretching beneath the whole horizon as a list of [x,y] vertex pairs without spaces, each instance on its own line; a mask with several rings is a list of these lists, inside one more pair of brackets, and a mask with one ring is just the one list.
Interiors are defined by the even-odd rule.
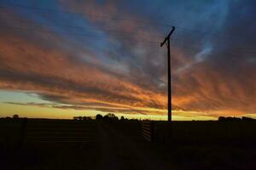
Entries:
[[141,123],[1,120],[1,169],[256,169],[255,122]]

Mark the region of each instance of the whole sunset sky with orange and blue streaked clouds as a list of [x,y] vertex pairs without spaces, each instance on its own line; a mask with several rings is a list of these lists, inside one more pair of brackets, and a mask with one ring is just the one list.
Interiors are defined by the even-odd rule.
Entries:
[[254,0],[1,0],[0,116],[256,117]]

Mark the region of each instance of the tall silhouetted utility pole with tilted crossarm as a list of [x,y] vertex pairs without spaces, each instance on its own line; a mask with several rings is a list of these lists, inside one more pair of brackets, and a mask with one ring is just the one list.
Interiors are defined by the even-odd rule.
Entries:
[[170,39],[172,36],[172,32],[175,30],[175,27],[172,26],[172,31],[165,38],[164,42],[161,42],[160,47],[163,47],[167,42],[167,50],[168,50],[168,122],[172,122],[172,83],[171,83],[171,49],[170,49]]

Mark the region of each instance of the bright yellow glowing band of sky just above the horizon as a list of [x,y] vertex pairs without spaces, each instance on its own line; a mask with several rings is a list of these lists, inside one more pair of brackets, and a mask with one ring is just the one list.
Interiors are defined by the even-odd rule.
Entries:
[[[0,98],[0,117],[13,116],[18,114],[20,117],[28,118],[54,118],[54,119],[73,119],[73,116],[96,116],[97,114],[106,115],[108,112],[94,111],[86,109],[61,109],[61,107],[55,108],[56,105],[46,100],[37,97],[37,94],[23,94],[22,92],[6,92],[0,90],[1,96],[5,96],[5,99]],[[16,97],[15,97],[16,96]],[[4,100],[12,99],[13,102],[7,102]],[[20,101],[23,101],[20,102]],[[25,101],[25,102],[24,102]],[[36,101],[36,102],[35,102]],[[42,103],[43,102],[43,103]],[[44,104],[44,105],[43,105]],[[138,109],[138,111],[147,111],[146,108]],[[167,120],[166,110],[157,110],[148,108],[148,115],[136,114],[136,113],[125,113],[115,112],[116,116],[125,116],[126,118],[134,119],[150,119],[150,120]],[[155,114],[154,111],[162,112],[162,115]],[[231,116],[248,116],[255,117],[253,113],[250,114],[234,114]],[[200,111],[172,111],[172,119],[174,121],[192,121],[192,120],[217,120],[218,116],[230,116],[229,111],[223,111],[216,115],[210,115]]]

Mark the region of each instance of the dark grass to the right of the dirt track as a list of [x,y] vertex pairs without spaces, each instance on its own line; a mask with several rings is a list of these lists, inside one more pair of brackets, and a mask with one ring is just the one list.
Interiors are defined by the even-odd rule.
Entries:
[[[158,157],[163,169],[256,169],[256,122],[172,122],[171,141],[154,143],[135,136],[141,124],[132,123],[110,124],[143,148],[145,156]],[[154,124],[161,135],[168,133],[166,122]]]

